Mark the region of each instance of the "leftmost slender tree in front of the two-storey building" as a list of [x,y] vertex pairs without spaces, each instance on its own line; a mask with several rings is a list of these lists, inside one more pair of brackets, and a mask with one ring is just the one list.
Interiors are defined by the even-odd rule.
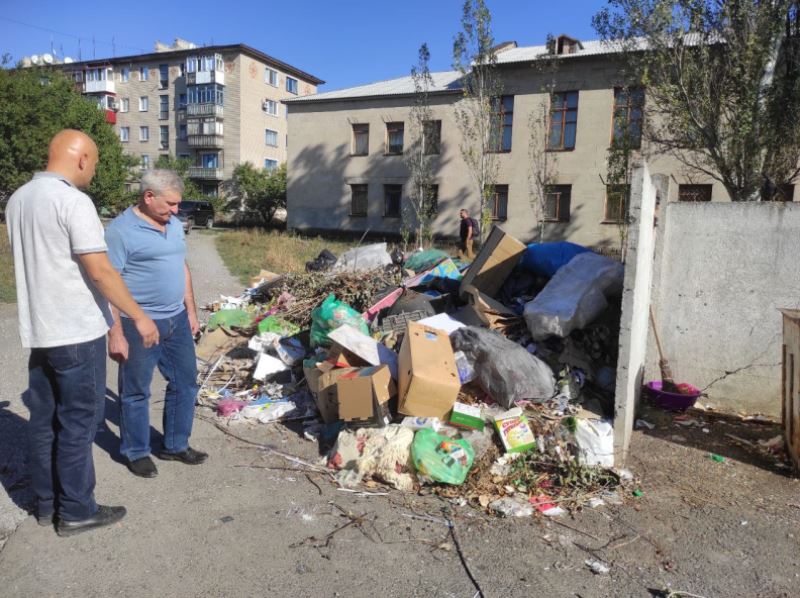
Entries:
[[[417,246],[422,249],[426,238],[430,244],[430,226],[436,206],[432,196],[431,158],[439,153],[440,132],[435,130],[431,118],[430,89],[433,87],[431,71],[428,68],[430,52],[427,44],[419,48],[419,62],[411,68],[414,81],[414,104],[409,116],[409,144],[404,159],[411,179],[409,201],[403,213],[403,228],[416,229]],[[408,206],[406,208],[406,206]]]

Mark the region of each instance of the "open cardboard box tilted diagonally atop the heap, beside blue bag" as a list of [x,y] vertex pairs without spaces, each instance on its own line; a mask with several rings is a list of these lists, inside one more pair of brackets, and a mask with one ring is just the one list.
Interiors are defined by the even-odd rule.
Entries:
[[493,226],[486,242],[461,279],[459,294],[466,300],[467,287],[474,286],[489,297],[496,297],[500,287],[519,262],[525,245],[498,226]]

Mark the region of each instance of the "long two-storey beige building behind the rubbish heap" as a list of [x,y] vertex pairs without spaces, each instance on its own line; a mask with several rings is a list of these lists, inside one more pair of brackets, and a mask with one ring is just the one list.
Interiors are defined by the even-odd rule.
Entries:
[[[665,175],[668,193],[662,200],[729,199],[720,183],[688,171],[659,148],[642,145],[646,90],[626,86],[619,57],[608,45],[560,36],[556,68],[537,68],[547,52],[545,46],[513,42],[498,48],[503,91],[495,101],[494,152],[499,173],[490,207],[506,231],[523,240],[538,238],[543,207],[548,239],[617,247],[625,194],[606,184],[606,172],[609,147],[622,133],[619,123],[630,131],[634,154],[646,154],[650,172]],[[459,209],[476,213],[480,198],[461,156],[462,135],[454,117],[454,106],[463,101],[459,73],[432,75],[432,120],[426,127],[432,142],[426,145],[437,204],[433,228],[455,236]],[[285,100],[292,131],[290,228],[400,230],[401,205],[409,192],[403,152],[413,100],[411,77]],[[544,145],[551,169],[544,206],[532,199],[534,136],[539,137],[533,147]],[[791,198],[794,189],[783,192]]]

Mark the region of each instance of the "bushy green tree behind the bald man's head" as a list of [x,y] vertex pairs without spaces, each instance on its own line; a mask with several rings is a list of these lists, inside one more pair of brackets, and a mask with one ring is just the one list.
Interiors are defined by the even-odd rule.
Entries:
[[[5,66],[8,58],[4,57]],[[49,68],[0,68],[0,196],[8,196],[47,164],[47,146],[61,129],[78,129],[97,144],[89,195],[99,207],[127,199],[125,180],[135,160],[122,152],[102,110],[75,90],[75,83]]]

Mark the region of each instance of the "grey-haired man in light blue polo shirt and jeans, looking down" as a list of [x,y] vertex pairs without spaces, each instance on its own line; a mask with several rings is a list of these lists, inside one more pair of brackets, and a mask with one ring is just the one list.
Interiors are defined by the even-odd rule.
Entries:
[[193,337],[199,330],[186,265],[183,226],[175,216],[183,181],[171,170],[142,175],[139,203],[106,229],[108,257],[134,299],[158,326],[160,342],[146,348],[126,314],[112,310],[108,352],[119,363],[120,453],[134,475],[158,475],[150,458],[150,383],[153,371],[167,380],[164,397],[164,446],[160,459],[188,465],[208,455],[189,446],[197,397]]

